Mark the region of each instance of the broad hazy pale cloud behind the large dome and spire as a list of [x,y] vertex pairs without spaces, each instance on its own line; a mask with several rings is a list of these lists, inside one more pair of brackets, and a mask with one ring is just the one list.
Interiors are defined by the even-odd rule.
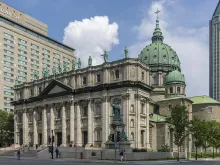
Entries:
[[152,3],[146,17],[142,19],[138,26],[134,27],[134,30],[138,32],[138,41],[129,47],[130,52],[133,56],[137,56],[146,45],[151,43],[156,19],[154,12],[158,8],[161,11],[160,27],[164,42],[177,52],[181,61],[182,73],[186,78],[187,96],[208,95],[208,27],[187,28],[184,27],[182,20],[179,20],[179,27],[170,25],[169,10],[178,5],[172,2],[161,0]]

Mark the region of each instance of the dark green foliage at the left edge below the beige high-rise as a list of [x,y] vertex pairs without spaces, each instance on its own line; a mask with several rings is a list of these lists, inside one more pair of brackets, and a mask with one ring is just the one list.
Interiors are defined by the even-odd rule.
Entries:
[[12,144],[14,139],[14,115],[0,110],[0,143]]

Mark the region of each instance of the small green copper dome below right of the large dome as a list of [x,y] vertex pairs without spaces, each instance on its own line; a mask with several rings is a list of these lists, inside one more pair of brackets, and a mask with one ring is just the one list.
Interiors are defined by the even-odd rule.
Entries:
[[170,84],[170,83],[182,83],[185,84],[185,78],[184,75],[177,70],[173,70],[170,72],[165,79],[165,84]]

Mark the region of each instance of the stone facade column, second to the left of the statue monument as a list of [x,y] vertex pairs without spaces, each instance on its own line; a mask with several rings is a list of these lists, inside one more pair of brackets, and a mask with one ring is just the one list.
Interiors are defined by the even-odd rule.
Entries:
[[92,145],[92,100],[88,100],[88,143],[87,146]]

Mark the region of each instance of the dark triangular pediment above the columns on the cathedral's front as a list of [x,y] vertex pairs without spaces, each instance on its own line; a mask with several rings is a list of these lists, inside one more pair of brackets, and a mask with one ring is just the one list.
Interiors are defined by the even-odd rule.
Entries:
[[59,93],[71,92],[72,88],[68,85],[61,83],[60,81],[53,80],[39,96],[55,95]]

